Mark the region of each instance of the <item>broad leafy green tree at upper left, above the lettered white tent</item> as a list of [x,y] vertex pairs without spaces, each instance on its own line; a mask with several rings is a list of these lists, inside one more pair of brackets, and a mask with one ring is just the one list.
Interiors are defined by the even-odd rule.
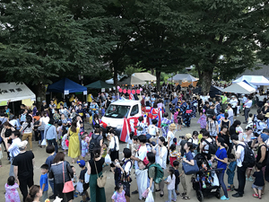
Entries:
[[75,19],[64,0],[6,1],[0,6],[0,71],[7,82],[35,85],[41,100],[52,78],[91,72],[107,49],[86,29],[100,20]]

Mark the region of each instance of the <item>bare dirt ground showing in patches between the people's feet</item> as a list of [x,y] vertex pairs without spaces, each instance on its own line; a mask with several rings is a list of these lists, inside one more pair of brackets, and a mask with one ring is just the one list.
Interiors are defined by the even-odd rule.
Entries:
[[[256,113],[256,109],[252,109],[251,112]],[[240,115],[236,119],[239,119],[241,122],[243,122],[244,118],[243,118],[243,116]],[[191,120],[191,127],[189,127],[189,128],[183,127],[181,131],[178,131],[176,133],[176,136],[177,137],[178,136],[184,136],[187,133],[192,133],[194,130],[199,131],[200,125],[197,124],[197,120],[198,119],[192,119]],[[245,128],[246,125],[242,124],[241,127]],[[89,127],[87,126],[86,128],[89,128]],[[125,148],[125,147],[126,147],[125,143],[120,143],[120,158],[122,157],[122,151],[123,151],[123,148]],[[59,151],[61,151],[61,149]],[[43,164],[46,161],[46,158],[48,157],[48,154],[46,154],[45,149],[39,148],[37,142],[33,143],[33,153],[35,154],[34,182],[35,182],[35,184],[39,184],[39,177],[40,177],[40,169],[39,169],[39,167],[41,166],[41,164]],[[68,157],[68,156],[65,157],[65,160],[68,161],[68,162],[72,162],[71,158]],[[6,159],[6,153],[4,153],[4,158],[2,159],[2,162],[3,162],[3,167],[0,168],[0,193],[1,193],[1,196],[3,198],[2,199],[0,198],[0,202],[2,202],[2,201],[4,202],[4,184],[6,183],[6,180],[8,178],[9,169],[10,169],[10,164]],[[79,175],[79,173],[80,173],[79,166],[77,164],[74,164],[74,167],[76,169],[77,175]],[[115,185],[114,185],[114,179],[113,179],[112,172],[108,171],[108,169],[109,169],[108,166],[104,168],[104,171],[107,171],[107,175],[108,175],[108,180],[107,180],[105,190],[106,190],[107,201],[112,201],[111,196],[113,195]],[[165,173],[165,175],[168,175],[167,171],[165,171],[164,173]],[[136,180],[134,178],[134,170],[132,170],[132,179],[133,179],[133,182],[131,184],[131,191],[134,191],[137,188]],[[226,174],[225,174],[225,180],[224,181],[225,181],[225,183],[227,183],[227,175]],[[237,176],[235,176],[234,183],[235,183],[235,186],[237,187],[238,186]],[[250,202],[251,201],[252,202],[254,200],[258,200],[256,198],[252,197],[252,194],[253,194],[253,190],[251,189],[252,183],[253,182],[251,182],[251,181],[246,182],[245,195],[244,195],[243,198],[232,198],[231,195],[234,194],[235,191],[229,192],[230,201],[245,201],[245,202],[247,202],[247,201]],[[265,195],[263,196],[262,200],[268,200],[269,199],[268,189],[269,189],[269,187],[266,186]],[[182,187],[180,185],[179,186],[179,192],[181,192],[181,191],[182,191]],[[21,196],[21,199],[22,199],[22,195],[21,195],[20,190],[19,190],[19,193],[20,193],[20,196]],[[51,194],[52,194],[52,191],[51,191],[51,189],[49,187],[48,196],[50,196]],[[161,202],[161,201],[168,200],[168,195],[167,194],[168,194],[168,192],[167,192],[167,188],[165,186],[164,197],[160,198],[159,193],[157,193],[155,201],[156,202]],[[221,190],[221,196],[222,195],[223,195],[223,192]],[[82,197],[74,198],[74,202],[79,202],[81,200],[82,200]],[[178,197],[177,201],[179,201],[179,200],[182,201],[182,199],[180,197]],[[218,199],[215,198],[215,197],[204,198],[204,201],[215,201],[215,200],[218,200]],[[136,202],[136,201],[139,201],[138,200],[138,195],[132,195],[131,196],[131,202]],[[196,198],[195,190],[191,191],[191,199],[189,201],[190,202],[198,201],[197,198]]]

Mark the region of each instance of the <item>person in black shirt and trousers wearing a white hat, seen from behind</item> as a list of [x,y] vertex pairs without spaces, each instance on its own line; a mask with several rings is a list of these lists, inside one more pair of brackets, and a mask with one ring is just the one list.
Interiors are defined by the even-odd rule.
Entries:
[[20,154],[13,159],[14,177],[20,185],[23,201],[25,201],[28,195],[28,189],[33,185],[33,166],[35,158],[31,151],[26,151],[27,144],[28,142],[26,140],[17,144]]

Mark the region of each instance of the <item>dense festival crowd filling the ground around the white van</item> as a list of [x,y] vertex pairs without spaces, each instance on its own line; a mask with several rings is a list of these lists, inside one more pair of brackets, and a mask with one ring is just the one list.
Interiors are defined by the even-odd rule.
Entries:
[[[43,202],[56,197],[72,201],[80,196],[82,201],[91,198],[91,202],[103,202],[111,198],[115,202],[128,202],[135,194],[139,199],[154,201],[156,192],[160,192],[160,198],[167,193],[170,202],[179,197],[190,199],[194,181],[206,189],[215,186],[215,178],[224,192],[222,200],[230,199],[228,193],[234,190],[232,197],[243,197],[246,180],[254,180],[253,197],[262,198],[265,180],[269,180],[267,96],[263,101],[259,100],[258,93],[248,96],[224,93],[211,98],[209,94],[195,95],[192,90],[181,92],[180,85],[163,84],[161,92],[148,86],[134,96],[102,92],[95,99],[88,95],[87,101],[79,101],[74,96],[67,101],[54,98],[49,104],[42,101],[39,110],[35,104],[31,109],[22,104],[18,116],[6,106],[0,112],[0,143],[3,143],[0,167],[4,152],[10,161],[9,178],[4,185],[5,200],[21,201],[16,190],[19,188],[23,202]],[[130,132],[130,139],[122,150],[124,158],[119,159],[120,144],[115,128],[106,126],[104,132],[106,123],[100,118],[114,101],[129,99],[141,102],[143,114],[138,119],[136,133]],[[254,104],[258,106],[256,114],[250,113]],[[160,109],[161,116],[158,116]],[[238,119],[240,114],[247,124],[245,128]],[[147,115],[149,121],[143,115]],[[200,124],[198,131],[191,130],[191,120],[195,118]],[[89,126],[91,128],[86,129]],[[182,127],[187,127],[190,133],[176,136]],[[33,139],[40,149],[46,147],[48,154],[40,166],[39,185],[34,185],[33,180]],[[67,162],[65,155],[72,158],[72,162]],[[73,163],[81,168],[79,176]],[[104,188],[103,170],[107,166],[115,180],[112,197],[106,196]],[[203,172],[189,173],[190,167],[198,167]],[[221,171],[207,172],[214,169]],[[164,178],[165,171],[167,178]],[[234,186],[236,171],[238,188]],[[134,177],[136,184],[132,183]],[[229,186],[224,178],[228,178]],[[183,187],[180,192],[179,183]],[[131,184],[136,188],[132,193]],[[48,187],[53,192],[49,197]]]

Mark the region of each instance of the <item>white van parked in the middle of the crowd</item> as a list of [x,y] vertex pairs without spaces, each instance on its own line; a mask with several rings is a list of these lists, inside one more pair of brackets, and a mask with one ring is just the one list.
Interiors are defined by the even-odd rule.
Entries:
[[140,117],[141,115],[140,101],[114,101],[109,105],[101,120],[108,124],[108,127],[114,127],[119,135],[125,118]]

